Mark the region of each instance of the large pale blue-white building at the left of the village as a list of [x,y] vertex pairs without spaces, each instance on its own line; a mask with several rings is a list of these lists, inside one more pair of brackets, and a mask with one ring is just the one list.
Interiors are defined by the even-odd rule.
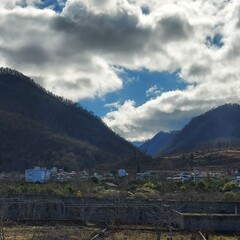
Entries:
[[35,167],[25,170],[25,180],[27,182],[46,182],[50,180],[51,171],[46,168]]

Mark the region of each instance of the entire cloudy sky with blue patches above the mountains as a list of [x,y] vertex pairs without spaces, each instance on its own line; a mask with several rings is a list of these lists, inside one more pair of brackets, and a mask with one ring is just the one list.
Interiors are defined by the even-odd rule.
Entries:
[[0,66],[129,141],[240,103],[239,0],[1,0]]

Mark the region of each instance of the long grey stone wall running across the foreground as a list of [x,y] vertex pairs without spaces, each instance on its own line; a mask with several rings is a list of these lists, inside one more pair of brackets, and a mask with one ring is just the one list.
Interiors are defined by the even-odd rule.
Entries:
[[163,202],[59,196],[0,198],[2,221],[74,221],[155,226],[169,226],[171,223],[187,231],[240,229],[239,209],[238,202]]

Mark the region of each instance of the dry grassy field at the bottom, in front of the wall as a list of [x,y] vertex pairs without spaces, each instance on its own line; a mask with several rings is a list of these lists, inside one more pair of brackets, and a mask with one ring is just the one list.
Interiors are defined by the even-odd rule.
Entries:
[[[126,226],[127,228],[127,226]],[[96,226],[26,226],[16,225],[0,228],[1,240],[90,240],[94,235],[101,232]],[[159,234],[160,233],[160,234]],[[160,238],[158,238],[160,236]],[[199,234],[173,232],[173,240],[200,239]],[[168,232],[156,232],[146,227],[136,227],[131,230],[110,228],[101,238],[105,240],[169,240]],[[212,234],[209,240],[239,240],[240,235],[217,235]]]

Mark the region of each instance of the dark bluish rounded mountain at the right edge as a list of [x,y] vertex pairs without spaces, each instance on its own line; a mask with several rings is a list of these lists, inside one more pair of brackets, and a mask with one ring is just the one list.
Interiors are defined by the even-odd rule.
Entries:
[[165,147],[186,152],[240,146],[240,105],[225,104],[193,118]]

